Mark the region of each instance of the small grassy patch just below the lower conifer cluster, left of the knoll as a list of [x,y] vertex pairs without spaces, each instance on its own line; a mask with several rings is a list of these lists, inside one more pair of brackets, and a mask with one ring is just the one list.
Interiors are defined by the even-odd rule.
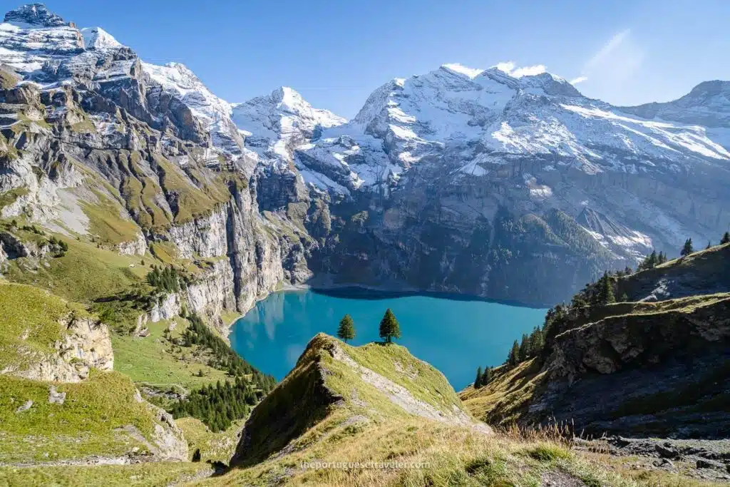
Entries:
[[224,432],[212,433],[202,421],[196,418],[180,418],[175,423],[183,430],[188,440],[191,456],[200,450],[200,461],[219,461],[228,464],[236,450],[238,435],[244,421],[234,421],[233,426]]

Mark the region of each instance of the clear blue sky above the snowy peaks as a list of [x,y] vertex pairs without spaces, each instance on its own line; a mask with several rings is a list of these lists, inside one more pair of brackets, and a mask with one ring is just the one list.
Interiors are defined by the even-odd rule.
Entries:
[[228,101],[288,85],[347,118],[389,79],[455,62],[542,65],[585,78],[580,91],[613,104],[667,101],[701,81],[730,80],[726,0],[46,4],[77,26],[101,26],[145,61],[186,64]]

